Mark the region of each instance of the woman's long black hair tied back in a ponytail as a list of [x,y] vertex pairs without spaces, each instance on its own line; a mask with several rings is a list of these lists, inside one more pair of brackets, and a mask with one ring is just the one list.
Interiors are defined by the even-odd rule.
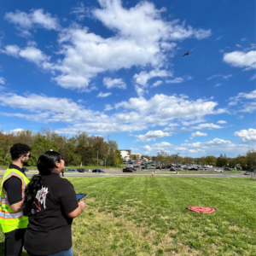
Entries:
[[21,207],[24,216],[31,215],[32,203],[38,193],[38,190],[42,188],[43,178],[42,176],[49,175],[54,167],[55,162],[61,161],[61,154],[55,151],[46,151],[38,158],[38,175],[34,175],[27,184],[25,189],[25,199]]

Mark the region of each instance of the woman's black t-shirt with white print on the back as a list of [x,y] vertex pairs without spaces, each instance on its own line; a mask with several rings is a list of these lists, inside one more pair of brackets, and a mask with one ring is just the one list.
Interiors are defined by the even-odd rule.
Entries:
[[38,255],[61,253],[72,247],[72,218],[67,212],[79,207],[73,184],[58,174],[43,176],[28,217],[24,247]]

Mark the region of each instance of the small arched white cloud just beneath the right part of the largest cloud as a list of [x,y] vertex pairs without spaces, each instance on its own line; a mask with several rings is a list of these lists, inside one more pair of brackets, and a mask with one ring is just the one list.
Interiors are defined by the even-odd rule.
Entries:
[[172,73],[167,72],[166,70],[155,69],[151,70],[149,73],[142,71],[139,74],[135,74],[133,79],[135,79],[137,84],[145,86],[149,79],[153,79],[154,77],[163,78],[168,76],[172,77]]

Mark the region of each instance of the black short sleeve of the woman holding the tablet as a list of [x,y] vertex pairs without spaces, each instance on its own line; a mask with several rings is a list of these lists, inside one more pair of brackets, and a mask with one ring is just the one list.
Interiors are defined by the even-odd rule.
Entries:
[[79,203],[77,201],[76,193],[73,189],[73,184],[70,183],[67,179],[63,180],[64,186],[61,186],[60,201],[61,207],[64,212],[73,212]]

